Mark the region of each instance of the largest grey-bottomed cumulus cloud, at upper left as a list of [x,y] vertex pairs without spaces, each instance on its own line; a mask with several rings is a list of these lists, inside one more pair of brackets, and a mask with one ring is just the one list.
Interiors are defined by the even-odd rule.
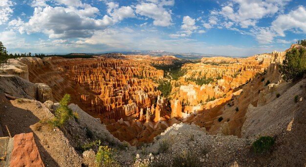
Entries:
[[28,22],[12,20],[9,25],[18,27],[20,33],[43,32],[49,38],[76,38],[90,37],[92,30],[105,28],[113,23],[107,15],[103,19],[92,19],[81,14],[80,11],[74,12],[65,7],[37,7]]

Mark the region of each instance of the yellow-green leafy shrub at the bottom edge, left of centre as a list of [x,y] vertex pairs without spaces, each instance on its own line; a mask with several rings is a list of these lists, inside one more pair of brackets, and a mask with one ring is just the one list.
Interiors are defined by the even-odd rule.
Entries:
[[108,146],[100,146],[96,154],[96,162],[98,167],[102,167],[102,165],[110,166],[115,164],[113,149]]

